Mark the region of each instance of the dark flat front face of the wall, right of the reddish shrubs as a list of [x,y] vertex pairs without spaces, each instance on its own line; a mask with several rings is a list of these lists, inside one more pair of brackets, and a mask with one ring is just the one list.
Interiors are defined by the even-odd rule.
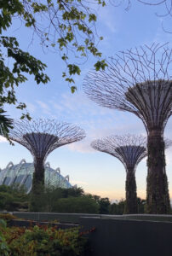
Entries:
[[94,256],[171,256],[172,223],[81,218]]

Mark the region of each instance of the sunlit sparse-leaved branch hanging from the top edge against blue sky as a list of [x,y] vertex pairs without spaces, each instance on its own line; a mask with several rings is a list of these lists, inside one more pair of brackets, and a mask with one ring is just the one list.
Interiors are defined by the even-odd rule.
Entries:
[[96,32],[97,18],[92,8],[95,5],[105,6],[105,1],[92,0],[88,3],[81,0],[48,0],[40,3],[37,0],[9,0],[1,5],[3,29],[11,26],[13,17],[17,16],[37,34],[43,49],[60,52],[61,59],[66,62],[67,71],[63,73],[63,77],[67,82],[74,83],[71,76],[81,73],[79,64],[69,61],[72,55],[78,61],[86,61],[91,53],[99,58],[95,63],[96,68],[100,70],[106,67],[95,44],[95,38],[98,41],[103,38]]

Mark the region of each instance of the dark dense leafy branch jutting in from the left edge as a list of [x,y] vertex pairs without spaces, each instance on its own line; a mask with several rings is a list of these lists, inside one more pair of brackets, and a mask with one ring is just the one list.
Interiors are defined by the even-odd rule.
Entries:
[[[1,26],[2,22],[0,22]],[[12,59],[12,63],[7,62]],[[10,67],[9,67],[10,66]],[[24,73],[33,75],[37,84],[47,83],[49,77],[43,73],[46,65],[34,58],[28,52],[19,48],[16,38],[0,37],[0,134],[8,137],[9,128],[13,127],[13,120],[2,115],[4,104],[14,104],[15,108],[23,110],[26,104],[18,102],[15,87],[26,82]],[[29,113],[22,113],[21,119],[31,119]]]

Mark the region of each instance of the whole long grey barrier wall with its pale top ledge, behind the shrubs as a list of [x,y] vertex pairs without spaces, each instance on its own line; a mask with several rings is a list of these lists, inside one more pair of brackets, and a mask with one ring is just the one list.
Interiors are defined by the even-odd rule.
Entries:
[[[172,215],[96,215],[80,213],[10,212],[18,218],[80,224],[89,233],[88,256],[171,256]],[[131,219],[135,218],[135,220]],[[141,219],[141,220],[140,220]]]

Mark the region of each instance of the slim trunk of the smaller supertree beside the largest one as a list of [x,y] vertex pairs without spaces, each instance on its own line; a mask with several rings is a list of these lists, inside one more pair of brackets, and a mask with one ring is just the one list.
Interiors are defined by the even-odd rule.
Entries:
[[138,213],[135,171],[128,170],[125,182],[126,201],[124,214]]

